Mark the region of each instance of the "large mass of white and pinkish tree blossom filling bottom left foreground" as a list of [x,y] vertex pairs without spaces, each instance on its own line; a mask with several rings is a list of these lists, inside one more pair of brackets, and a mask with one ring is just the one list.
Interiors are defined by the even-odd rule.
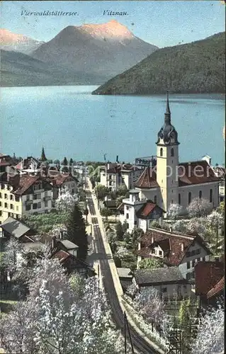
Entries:
[[118,337],[98,279],[70,281],[57,260],[39,263],[27,301],[1,319],[8,353],[122,353]]

